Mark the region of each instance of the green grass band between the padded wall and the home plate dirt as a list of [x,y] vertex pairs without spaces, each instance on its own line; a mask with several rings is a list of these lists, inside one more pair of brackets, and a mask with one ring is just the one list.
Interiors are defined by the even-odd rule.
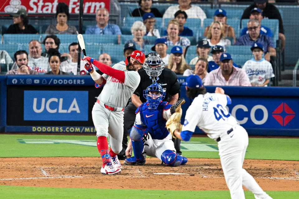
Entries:
[[[94,146],[78,144],[24,144],[20,139],[39,140],[94,140],[93,135],[6,135],[0,134],[0,157],[98,157]],[[193,137],[201,144],[217,143],[208,137]],[[188,158],[219,158],[218,151],[183,151]],[[246,159],[299,160],[297,138],[249,138]]]

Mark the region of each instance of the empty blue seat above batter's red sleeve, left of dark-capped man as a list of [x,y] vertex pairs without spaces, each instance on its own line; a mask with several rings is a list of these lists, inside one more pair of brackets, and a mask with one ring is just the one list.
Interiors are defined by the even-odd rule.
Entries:
[[123,45],[103,45],[100,49],[100,54],[107,53],[111,57],[113,63],[118,63],[121,60],[124,60],[123,56]]

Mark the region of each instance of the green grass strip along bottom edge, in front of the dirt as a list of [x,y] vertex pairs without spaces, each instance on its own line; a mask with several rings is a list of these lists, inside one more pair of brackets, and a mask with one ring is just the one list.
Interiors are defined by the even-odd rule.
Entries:
[[[273,198],[293,199],[299,192],[267,191]],[[204,198],[229,199],[229,191],[173,191],[140,189],[94,189],[94,188],[52,188],[0,186],[0,195],[6,199],[64,199],[64,198]],[[113,196],[113,197],[112,197]],[[118,196],[118,197],[117,197]],[[251,192],[245,191],[246,199],[254,199]]]

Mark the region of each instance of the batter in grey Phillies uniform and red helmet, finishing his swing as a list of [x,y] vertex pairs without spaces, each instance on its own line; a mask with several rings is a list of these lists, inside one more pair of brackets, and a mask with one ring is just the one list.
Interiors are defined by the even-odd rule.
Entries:
[[[145,56],[141,51],[135,50],[127,57],[126,65],[115,64],[112,68],[91,57],[84,57],[84,60],[87,61],[84,67],[96,87],[104,85],[92,109],[92,120],[98,137],[97,147],[103,160],[101,173],[119,173],[122,166],[117,154],[122,150],[123,110],[140,82],[137,70],[142,67]],[[92,64],[104,74],[97,73]]]

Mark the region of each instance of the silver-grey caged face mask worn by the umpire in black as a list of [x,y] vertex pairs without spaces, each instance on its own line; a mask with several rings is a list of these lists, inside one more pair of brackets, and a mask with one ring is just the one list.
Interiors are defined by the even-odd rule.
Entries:
[[146,71],[148,76],[157,78],[161,75],[162,70],[164,69],[164,62],[158,53],[150,53],[147,55],[147,59],[143,64],[143,68]]

